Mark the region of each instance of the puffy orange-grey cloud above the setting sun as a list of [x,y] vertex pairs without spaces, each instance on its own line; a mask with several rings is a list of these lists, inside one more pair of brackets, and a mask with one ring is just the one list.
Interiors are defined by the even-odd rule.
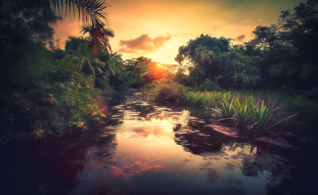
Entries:
[[141,35],[136,39],[120,40],[119,45],[122,47],[118,51],[124,53],[137,53],[139,51],[153,52],[164,46],[166,41],[171,39],[171,35],[167,37],[158,36],[154,39],[147,34]]

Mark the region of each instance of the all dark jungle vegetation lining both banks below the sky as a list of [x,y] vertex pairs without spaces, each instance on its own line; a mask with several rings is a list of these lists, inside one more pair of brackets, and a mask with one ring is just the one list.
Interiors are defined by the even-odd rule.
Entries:
[[[282,11],[277,24],[257,26],[253,39],[241,45],[203,34],[189,40],[179,47],[178,64],[143,56],[124,60],[113,52],[114,32],[103,2],[2,0],[1,5],[1,143],[103,125],[104,96],[129,88],[156,100],[202,106],[247,133],[317,135],[315,0]],[[51,24],[71,15],[57,9],[69,5],[90,19],[81,21],[86,37],[69,37],[62,50]]]

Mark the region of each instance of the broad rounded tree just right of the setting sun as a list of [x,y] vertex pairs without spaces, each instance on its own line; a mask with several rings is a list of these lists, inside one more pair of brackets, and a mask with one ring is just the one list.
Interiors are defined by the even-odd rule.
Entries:
[[231,46],[231,39],[201,35],[179,48],[176,60],[189,61],[189,80],[200,86],[205,79],[227,88],[255,86],[259,80],[257,57],[243,55],[244,49]]

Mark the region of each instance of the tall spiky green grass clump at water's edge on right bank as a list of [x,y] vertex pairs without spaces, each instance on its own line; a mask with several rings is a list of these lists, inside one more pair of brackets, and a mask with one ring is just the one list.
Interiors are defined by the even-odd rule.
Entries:
[[[291,116],[282,113],[283,103],[277,93],[243,91],[189,91],[185,102],[202,105],[212,111],[219,120],[235,121],[244,132],[261,133],[269,131]],[[277,98],[278,97],[278,98]],[[277,98],[277,99],[276,99]],[[272,100],[275,101],[272,101]],[[271,132],[272,133],[272,132]]]

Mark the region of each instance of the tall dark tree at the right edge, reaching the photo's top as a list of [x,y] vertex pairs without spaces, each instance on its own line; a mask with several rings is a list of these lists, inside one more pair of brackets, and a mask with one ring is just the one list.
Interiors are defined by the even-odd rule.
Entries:
[[293,13],[282,11],[278,24],[258,26],[253,34],[255,38],[250,45],[263,52],[263,83],[288,89],[310,89],[318,85],[317,1],[301,3]]

